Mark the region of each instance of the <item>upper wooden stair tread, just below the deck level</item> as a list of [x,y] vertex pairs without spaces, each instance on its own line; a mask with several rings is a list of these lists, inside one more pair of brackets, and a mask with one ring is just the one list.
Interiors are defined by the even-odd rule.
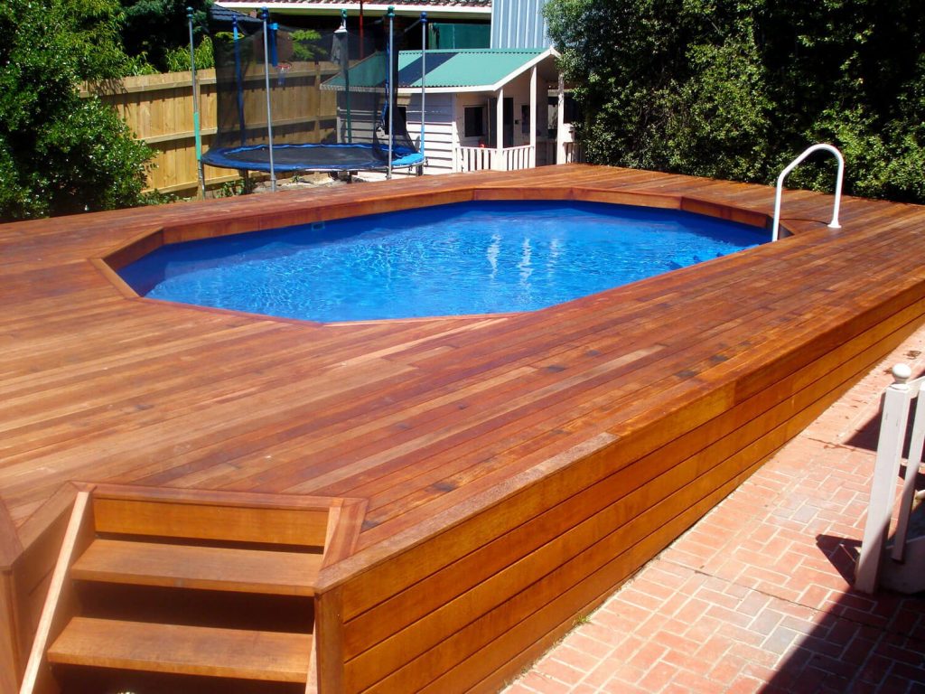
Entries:
[[94,539],[71,567],[81,580],[142,586],[314,595],[322,555]]

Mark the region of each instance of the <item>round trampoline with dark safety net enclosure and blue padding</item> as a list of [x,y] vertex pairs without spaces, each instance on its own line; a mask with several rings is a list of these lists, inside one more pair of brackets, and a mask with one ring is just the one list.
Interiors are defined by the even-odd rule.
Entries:
[[271,22],[265,51],[263,22],[241,19],[232,31],[213,26],[217,131],[203,163],[269,172],[272,142],[277,173],[386,169],[390,137],[392,167],[423,162],[399,108],[389,132],[399,36],[389,55],[388,20],[367,25],[363,42],[343,27],[321,34]]

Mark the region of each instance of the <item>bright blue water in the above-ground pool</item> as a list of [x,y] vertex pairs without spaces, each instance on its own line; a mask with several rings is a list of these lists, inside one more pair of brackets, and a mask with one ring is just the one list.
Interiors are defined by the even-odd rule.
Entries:
[[166,245],[140,294],[317,321],[532,311],[769,240],[684,212],[464,203]]

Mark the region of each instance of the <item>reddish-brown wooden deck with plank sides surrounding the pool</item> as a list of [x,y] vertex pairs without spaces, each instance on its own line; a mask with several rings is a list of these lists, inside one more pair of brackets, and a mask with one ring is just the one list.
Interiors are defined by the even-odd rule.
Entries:
[[0,226],[0,670],[22,668],[80,480],[362,500],[315,586],[322,690],[492,690],[925,317],[925,208],[845,199],[833,230],[810,192],[784,195],[793,237],[513,316],[246,316],[131,297],[101,260],[533,197],[761,226],[773,206],[573,165]]

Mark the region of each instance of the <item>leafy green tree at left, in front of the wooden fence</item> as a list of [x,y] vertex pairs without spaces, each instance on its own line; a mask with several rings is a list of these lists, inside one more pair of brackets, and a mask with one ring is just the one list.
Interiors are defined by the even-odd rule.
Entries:
[[84,80],[120,74],[114,0],[0,5],[0,219],[142,202],[151,151]]

